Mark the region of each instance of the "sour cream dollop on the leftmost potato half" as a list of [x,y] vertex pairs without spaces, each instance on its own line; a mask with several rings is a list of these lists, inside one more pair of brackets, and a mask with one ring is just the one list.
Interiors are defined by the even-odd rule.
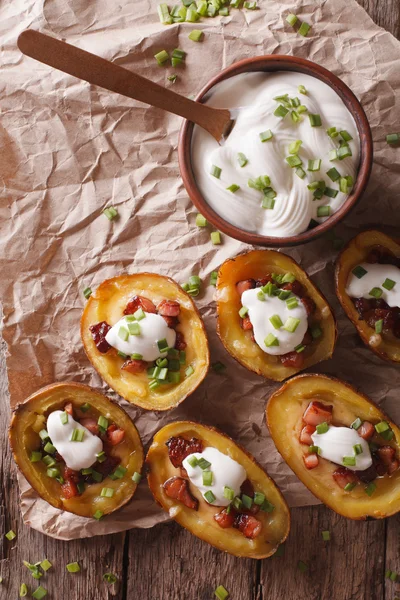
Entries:
[[[47,433],[51,442],[65,460],[67,467],[74,471],[88,469],[96,462],[96,454],[103,450],[103,442],[68,413],[68,421],[64,425],[61,421],[62,414],[63,411],[55,410],[47,418]],[[71,441],[74,429],[84,431],[81,442]]]

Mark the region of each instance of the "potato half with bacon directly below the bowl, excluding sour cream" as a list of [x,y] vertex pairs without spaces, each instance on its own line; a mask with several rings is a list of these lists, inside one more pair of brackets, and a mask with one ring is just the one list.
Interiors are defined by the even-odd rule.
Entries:
[[[242,303],[237,286],[246,281],[258,286],[272,275],[276,281],[276,276],[288,274],[292,274],[295,281],[284,284],[284,289],[290,292],[293,288],[294,293],[302,295],[302,300],[311,307],[307,331],[309,340],[301,354],[290,352],[281,357],[264,352],[253,341],[251,324],[248,330],[248,321],[239,315]],[[283,381],[333,354],[337,337],[333,312],[307,273],[282,252],[252,250],[225,261],[218,271],[217,312],[217,332],[229,354],[250,371],[267,379]],[[315,335],[310,332],[315,332]]]

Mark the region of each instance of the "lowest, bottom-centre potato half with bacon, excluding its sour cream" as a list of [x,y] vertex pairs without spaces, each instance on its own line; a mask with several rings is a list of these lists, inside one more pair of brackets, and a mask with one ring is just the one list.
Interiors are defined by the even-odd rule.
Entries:
[[[260,507],[253,503],[252,509],[247,511],[248,515],[241,515],[240,509],[236,512],[234,508],[226,515],[229,507],[221,511],[221,506],[206,502],[199,489],[187,479],[186,471],[182,471],[181,458],[187,456],[188,452],[190,454],[189,448],[179,457],[179,453],[185,450],[185,444],[194,444],[193,449],[200,452],[211,447],[237,461],[246,472],[247,480],[243,484],[245,491],[251,497],[257,497],[261,501],[264,499],[266,510],[263,507],[258,510]],[[171,461],[174,461],[177,466],[174,466]],[[146,457],[146,467],[150,489],[162,508],[180,525],[219,550],[234,556],[266,558],[274,554],[288,536],[289,509],[275,483],[250,454],[213,427],[190,421],[166,425],[154,436]],[[209,468],[212,469],[213,466]],[[168,495],[171,493],[168,491],[167,494],[166,486],[166,483],[175,483],[180,479],[186,482],[186,497],[179,496],[181,500],[177,499],[177,494],[172,494],[175,497]],[[210,490],[213,489],[215,490],[210,487]],[[248,500],[251,504],[250,497]],[[254,508],[256,512],[253,511]],[[220,516],[231,518],[231,522],[224,521],[221,525],[218,524],[215,517],[218,519]],[[245,522],[247,519],[248,523]],[[240,520],[241,522],[238,523]],[[254,536],[254,525],[257,530],[256,536]],[[250,532],[242,526],[250,527]],[[254,537],[246,537],[246,535]]]

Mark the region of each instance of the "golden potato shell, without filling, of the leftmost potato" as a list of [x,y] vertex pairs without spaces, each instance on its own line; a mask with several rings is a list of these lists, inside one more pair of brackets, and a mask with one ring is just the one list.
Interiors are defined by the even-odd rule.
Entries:
[[[61,409],[66,402],[71,402],[74,409],[88,402],[93,408],[110,421],[125,430],[124,440],[112,447],[110,454],[118,456],[127,473],[123,479],[112,481],[107,478],[107,487],[114,488],[112,498],[100,497],[105,483],[93,483],[83,494],[70,499],[60,496],[60,484],[46,475],[43,463],[31,463],[30,453],[40,444],[38,432],[32,426],[43,419],[49,412]],[[37,427],[36,427],[37,429]],[[87,385],[75,382],[54,383],[41,388],[24,402],[18,404],[13,411],[9,428],[9,440],[14,460],[24,477],[34,490],[55,508],[72,512],[83,517],[92,517],[96,510],[104,515],[121,508],[134,495],[137,484],[132,475],[142,472],[144,453],[139,434],[130,417],[115,402]]]

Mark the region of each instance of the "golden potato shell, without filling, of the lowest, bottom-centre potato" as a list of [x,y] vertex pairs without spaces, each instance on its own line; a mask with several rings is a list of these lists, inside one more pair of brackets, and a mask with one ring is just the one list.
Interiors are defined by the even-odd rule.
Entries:
[[[213,518],[221,509],[207,505],[194,486],[191,486],[191,491],[200,500],[198,511],[187,508],[164,493],[164,482],[173,475],[179,475],[179,469],[175,469],[169,460],[166,442],[172,436],[179,435],[197,437],[205,446],[213,446],[237,460],[246,469],[255,490],[264,493],[275,505],[272,513],[257,514],[257,518],[263,522],[259,537],[249,540],[236,529],[222,529]],[[273,480],[251,454],[214,427],[191,421],[166,425],[154,436],[146,457],[146,467],[148,484],[158,504],[180,525],[219,550],[238,557],[266,558],[276,552],[289,534],[289,508]]]

